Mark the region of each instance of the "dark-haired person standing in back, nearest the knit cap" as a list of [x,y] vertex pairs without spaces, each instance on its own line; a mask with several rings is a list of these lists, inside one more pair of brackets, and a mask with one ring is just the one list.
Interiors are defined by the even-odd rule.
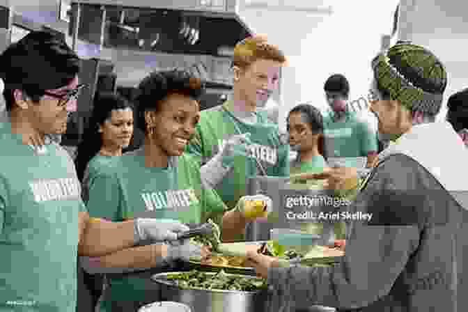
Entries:
[[[331,75],[325,81],[324,90],[331,109],[323,120],[325,158],[329,162],[332,158],[338,158],[336,161],[345,166],[372,167],[377,157],[377,134],[350,111],[347,103],[350,93],[348,79],[341,74]],[[357,157],[366,159],[363,166],[352,160]]]

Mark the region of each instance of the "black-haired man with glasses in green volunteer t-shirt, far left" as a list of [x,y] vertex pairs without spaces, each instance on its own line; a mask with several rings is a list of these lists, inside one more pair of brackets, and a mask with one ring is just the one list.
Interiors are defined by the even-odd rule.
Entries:
[[75,312],[77,254],[174,240],[189,228],[172,220],[89,217],[72,159],[46,137],[65,132],[84,88],[79,58],[63,39],[33,31],[1,54],[0,68],[10,115],[0,127],[0,312]]

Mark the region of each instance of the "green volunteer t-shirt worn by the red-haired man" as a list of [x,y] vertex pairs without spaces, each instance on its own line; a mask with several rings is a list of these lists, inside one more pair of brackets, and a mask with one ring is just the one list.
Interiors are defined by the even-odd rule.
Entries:
[[237,134],[249,132],[252,145],[249,157],[235,158],[233,168],[220,182],[217,193],[229,208],[247,195],[247,178],[261,176],[256,160],[265,169],[267,176],[289,176],[289,145],[281,144],[277,125],[270,123],[263,112],[257,114],[256,124],[242,123],[228,107],[231,102],[201,111],[194,139],[187,152],[195,155],[202,165],[219,153],[224,143]]

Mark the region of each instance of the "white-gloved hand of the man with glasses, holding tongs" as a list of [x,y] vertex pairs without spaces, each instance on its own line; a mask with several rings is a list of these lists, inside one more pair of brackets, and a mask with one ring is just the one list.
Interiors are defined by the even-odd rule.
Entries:
[[177,240],[177,233],[189,227],[172,219],[135,219],[135,244],[139,242],[164,242]]

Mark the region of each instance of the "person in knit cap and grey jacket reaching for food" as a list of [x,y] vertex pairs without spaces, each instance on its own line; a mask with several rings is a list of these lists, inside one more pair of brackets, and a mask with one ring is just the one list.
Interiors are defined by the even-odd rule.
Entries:
[[[372,62],[379,132],[396,139],[350,205],[345,256],[333,267],[281,267],[249,252],[267,278],[268,311],[334,306],[339,311],[466,311],[457,297],[455,249],[468,200],[468,150],[448,122],[435,123],[447,84],[428,49],[398,42]],[[435,146],[437,143],[437,146]],[[352,169],[331,169],[336,185]],[[362,213],[371,218],[359,219]],[[465,238],[465,237],[464,237]],[[459,272],[459,273],[457,273]],[[462,288],[458,288],[462,291]],[[461,297],[463,295],[461,294]]]

